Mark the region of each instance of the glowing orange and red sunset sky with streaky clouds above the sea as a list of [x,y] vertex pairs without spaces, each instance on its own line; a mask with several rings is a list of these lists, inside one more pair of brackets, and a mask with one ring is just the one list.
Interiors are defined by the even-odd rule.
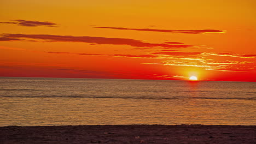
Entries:
[[256,81],[254,0],[1,0],[0,76]]

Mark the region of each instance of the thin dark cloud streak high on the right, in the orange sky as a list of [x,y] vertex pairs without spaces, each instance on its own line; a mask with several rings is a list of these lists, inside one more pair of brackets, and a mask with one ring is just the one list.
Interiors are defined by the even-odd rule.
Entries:
[[94,27],[94,28],[109,28],[109,29],[134,30],[134,31],[166,32],[166,33],[188,33],[188,34],[224,33],[224,32],[225,32],[225,31],[215,30],[215,29],[202,29],[202,30],[168,30],[168,29],[124,28],[124,27]]

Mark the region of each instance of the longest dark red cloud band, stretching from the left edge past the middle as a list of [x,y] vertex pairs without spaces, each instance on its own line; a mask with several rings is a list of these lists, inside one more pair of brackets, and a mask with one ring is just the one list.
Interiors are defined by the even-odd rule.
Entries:
[[135,47],[165,47],[165,48],[181,48],[189,47],[192,45],[170,45],[170,44],[154,44],[154,43],[144,43],[140,40],[135,39],[124,39],[124,38],[105,38],[105,37],[74,37],[71,35],[49,35],[49,34],[2,34],[2,39],[7,38],[31,38],[45,40],[48,42],[82,42],[82,43],[91,43],[91,44],[112,44],[112,45],[130,45]]

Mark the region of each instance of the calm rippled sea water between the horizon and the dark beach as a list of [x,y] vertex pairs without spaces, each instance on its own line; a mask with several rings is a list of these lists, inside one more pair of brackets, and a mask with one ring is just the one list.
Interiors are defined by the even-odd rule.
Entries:
[[256,125],[256,82],[0,77],[0,126]]

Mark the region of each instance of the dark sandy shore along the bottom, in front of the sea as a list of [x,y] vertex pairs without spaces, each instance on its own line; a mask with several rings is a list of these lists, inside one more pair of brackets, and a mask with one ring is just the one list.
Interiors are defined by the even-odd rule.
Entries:
[[77,125],[0,127],[0,143],[256,143],[256,126]]

